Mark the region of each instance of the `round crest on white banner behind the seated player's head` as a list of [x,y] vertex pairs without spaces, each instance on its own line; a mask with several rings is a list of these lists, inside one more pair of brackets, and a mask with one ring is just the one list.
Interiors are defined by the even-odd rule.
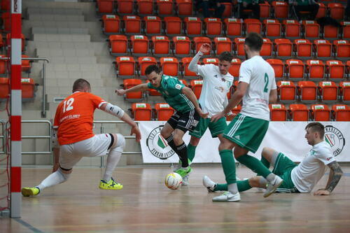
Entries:
[[345,146],[345,139],[342,132],[332,125],[325,126],[325,141],[332,148],[332,154],[334,156],[339,155]]

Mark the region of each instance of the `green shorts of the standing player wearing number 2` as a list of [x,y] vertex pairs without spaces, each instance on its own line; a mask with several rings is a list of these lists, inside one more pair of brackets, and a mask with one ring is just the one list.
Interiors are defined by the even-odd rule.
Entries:
[[223,136],[241,148],[255,153],[269,128],[269,121],[238,114],[226,127]]

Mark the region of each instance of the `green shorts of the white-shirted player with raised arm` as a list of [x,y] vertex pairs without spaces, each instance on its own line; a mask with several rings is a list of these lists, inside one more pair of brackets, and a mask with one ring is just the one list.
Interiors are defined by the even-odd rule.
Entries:
[[216,138],[219,134],[223,134],[223,131],[228,127],[228,124],[226,124],[226,118],[220,118],[217,122],[210,122],[210,118],[200,118],[197,127],[195,127],[193,132],[190,132],[190,136],[195,136],[200,139],[208,127],[211,136]]

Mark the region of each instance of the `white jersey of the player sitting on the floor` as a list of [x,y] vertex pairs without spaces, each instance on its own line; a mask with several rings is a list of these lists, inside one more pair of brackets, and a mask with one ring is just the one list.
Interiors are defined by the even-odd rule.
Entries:
[[290,174],[295,188],[299,192],[311,192],[325,174],[326,165],[333,161],[335,157],[327,142],[321,141],[314,145],[304,160]]

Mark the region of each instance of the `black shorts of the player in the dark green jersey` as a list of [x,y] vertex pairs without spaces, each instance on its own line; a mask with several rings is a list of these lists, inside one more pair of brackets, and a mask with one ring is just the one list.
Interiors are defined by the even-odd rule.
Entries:
[[173,129],[192,132],[200,122],[200,114],[195,109],[186,113],[175,112],[167,122]]

